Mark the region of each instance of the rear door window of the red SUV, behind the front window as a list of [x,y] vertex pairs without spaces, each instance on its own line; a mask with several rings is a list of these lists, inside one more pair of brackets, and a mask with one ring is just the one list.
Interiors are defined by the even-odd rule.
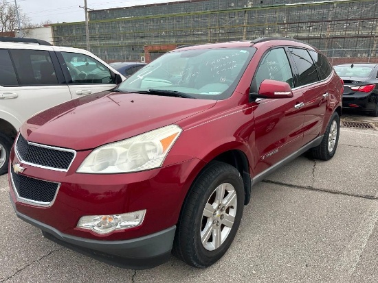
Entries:
[[299,86],[318,82],[318,73],[316,72],[315,64],[313,63],[309,52],[305,49],[299,48],[289,48],[289,51],[298,69]]

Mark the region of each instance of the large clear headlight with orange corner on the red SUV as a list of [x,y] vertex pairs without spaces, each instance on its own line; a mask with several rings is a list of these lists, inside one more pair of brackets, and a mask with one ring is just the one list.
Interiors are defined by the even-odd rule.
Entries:
[[103,145],[82,162],[78,173],[127,173],[161,167],[182,130],[168,125],[151,132]]

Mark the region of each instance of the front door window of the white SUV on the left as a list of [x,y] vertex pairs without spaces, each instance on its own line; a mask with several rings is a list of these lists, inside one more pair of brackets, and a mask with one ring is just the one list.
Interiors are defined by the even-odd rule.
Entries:
[[71,75],[70,84],[114,84],[110,70],[97,60],[80,53],[61,52]]

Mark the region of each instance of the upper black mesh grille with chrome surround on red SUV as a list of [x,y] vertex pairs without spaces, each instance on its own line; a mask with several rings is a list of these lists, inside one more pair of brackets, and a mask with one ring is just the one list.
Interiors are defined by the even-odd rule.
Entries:
[[20,161],[60,171],[67,171],[75,157],[74,150],[27,143],[21,134],[17,139],[16,152]]

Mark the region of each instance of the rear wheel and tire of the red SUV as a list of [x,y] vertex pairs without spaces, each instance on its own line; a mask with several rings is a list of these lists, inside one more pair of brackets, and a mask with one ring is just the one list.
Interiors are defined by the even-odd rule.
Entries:
[[331,120],[327,125],[322,143],[318,147],[313,147],[311,153],[314,158],[320,160],[330,160],[335,155],[340,135],[340,117],[337,112],[331,116]]

